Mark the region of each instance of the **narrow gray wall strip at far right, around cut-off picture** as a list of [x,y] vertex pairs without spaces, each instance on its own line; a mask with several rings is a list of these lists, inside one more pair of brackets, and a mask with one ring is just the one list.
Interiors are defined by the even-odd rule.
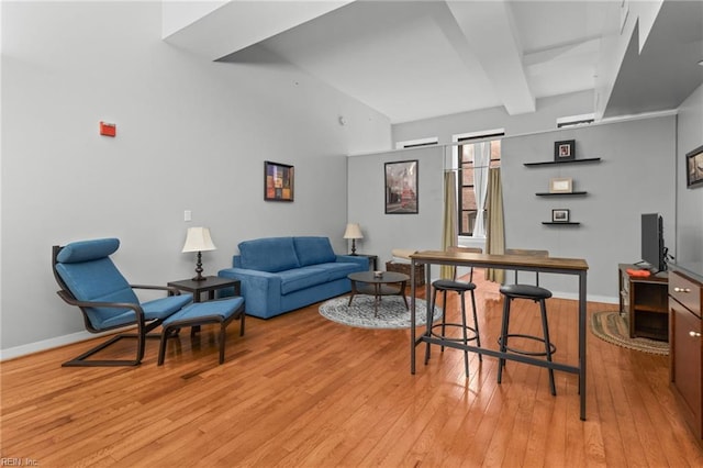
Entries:
[[703,187],[687,188],[685,154],[703,145],[703,86],[679,108],[677,151],[677,245],[683,266],[703,276]]

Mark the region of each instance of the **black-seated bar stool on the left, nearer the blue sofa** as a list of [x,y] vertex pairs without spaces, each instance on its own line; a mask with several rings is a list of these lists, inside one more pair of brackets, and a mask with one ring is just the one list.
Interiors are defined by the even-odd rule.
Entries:
[[[480,248],[473,248],[473,247],[449,247],[447,250],[453,253],[473,253],[473,254],[481,254],[483,252]],[[473,294],[473,291],[476,290],[476,285],[473,283],[473,268],[471,267],[468,282],[457,280],[457,267],[454,267],[454,279],[435,280],[432,282],[432,288],[434,290],[432,293],[432,303],[429,307],[429,311],[432,312],[427,314],[428,315],[427,323],[428,324],[432,323],[431,317],[434,315],[435,304],[437,301],[437,291],[442,291],[443,304],[445,308],[442,314],[442,323],[429,326],[429,333],[432,334],[432,336],[436,338],[449,341],[449,342],[464,343],[465,345],[467,345],[471,341],[476,341],[476,345],[481,346],[481,338],[479,336],[479,320],[476,314],[476,296]],[[447,323],[447,313],[446,313],[447,312],[446,311],[447,291],[453,291],[460,296],[459,300],[461,301],[461,323]],[[466,303],[465,303],[466,298],[464,294],[467,291],[471,293],[473,326],[468,326],[466,321]],[[459,338],[447,337],[446,332],[448,326],[461,328],[461,337]],[[436,328],[439,328],[439,327],[442,328],[440,333],[436,331]],[[470,335],[469,335],[469,332],[470,332]],[[442,352],[444,352],[444,348],[445,347],[443,345]],[[425,348],[425,364],[427,364],[428,360],[429,360],[429,343],[427,343],[427,346]],[[481,354],[479,354],[479,360],[480,361],[483,360],[483,356]],[[469,377],[469,352],[468,350],[464,350],[464,370],[466,371],[466,376]]]

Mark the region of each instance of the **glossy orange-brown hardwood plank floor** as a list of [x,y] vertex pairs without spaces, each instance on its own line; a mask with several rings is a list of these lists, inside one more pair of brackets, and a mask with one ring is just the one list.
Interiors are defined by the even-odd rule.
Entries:
[[[448,300],[457,311],[456,294]],[[495,287],[477,292],[481,337],[496,346]],[[547,303],[556,360],[577,357],[577,304]],[[613,310],[589,303],[589,313]],[[538,309],[515,302],[512,331],[538,333]],[[132,353],[131,343],[111,354]],[[588,334],[587,421],[577,376],[433,347],[410,374],[406,330],[362,330],[309,307],[230,326],[225,364],[216,328],[169,343],[156,366],[149,341],[136,368],[62,368],[89,343],[2,363],[1,456],[72,466],[701,467],[679,415],[668,358]],[[26,463],[24,463],[26,465]],[[3,463],[7,465],[7,463]]]

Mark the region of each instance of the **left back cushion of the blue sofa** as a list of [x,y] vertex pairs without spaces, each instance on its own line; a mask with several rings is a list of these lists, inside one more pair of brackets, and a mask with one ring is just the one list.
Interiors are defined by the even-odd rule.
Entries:
[[284,271],[300,266],[292,237],[266,237],[241,242],[242,268]]

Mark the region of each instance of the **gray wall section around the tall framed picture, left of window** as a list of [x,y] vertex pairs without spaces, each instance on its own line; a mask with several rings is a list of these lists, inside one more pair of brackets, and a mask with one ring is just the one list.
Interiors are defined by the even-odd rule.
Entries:
[[[443,147],[391,151],[348,158],[349,222],[361,226],[364,239],[357,250],[379,257],[386,269],[393,248],[424,250],[442,246]],[[384,164],[417,159],[417,214],[386,214]]]

